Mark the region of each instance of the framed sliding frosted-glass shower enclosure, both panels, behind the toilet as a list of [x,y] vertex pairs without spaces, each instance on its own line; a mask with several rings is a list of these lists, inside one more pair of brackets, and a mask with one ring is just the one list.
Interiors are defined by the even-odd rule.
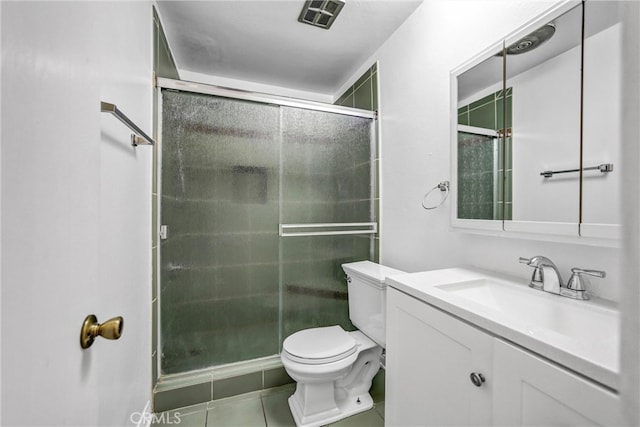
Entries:
[[159,80],[161,374],[353,330],[341,264],[377,258],[374,113]]

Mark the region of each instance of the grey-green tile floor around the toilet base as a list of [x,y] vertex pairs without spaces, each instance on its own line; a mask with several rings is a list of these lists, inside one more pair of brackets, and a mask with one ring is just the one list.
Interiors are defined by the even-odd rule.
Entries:
[[[295,384],[155,414],[153,426],[173,427],[295,427],[287,399]],[[384,427],[384,402],[337,423],[336,427]]]

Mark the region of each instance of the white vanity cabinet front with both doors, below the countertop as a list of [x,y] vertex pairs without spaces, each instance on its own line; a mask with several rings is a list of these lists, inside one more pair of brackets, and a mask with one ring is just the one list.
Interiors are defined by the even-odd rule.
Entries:
[[622,424],[615,393],[392,287],[386,370],[388,426]]

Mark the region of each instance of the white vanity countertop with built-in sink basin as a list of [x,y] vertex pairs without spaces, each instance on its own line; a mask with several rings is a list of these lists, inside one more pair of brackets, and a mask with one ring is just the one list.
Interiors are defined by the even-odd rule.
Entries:
[[521,280],[470,269],[388,277],[389,286],[617,389],[619,314]]

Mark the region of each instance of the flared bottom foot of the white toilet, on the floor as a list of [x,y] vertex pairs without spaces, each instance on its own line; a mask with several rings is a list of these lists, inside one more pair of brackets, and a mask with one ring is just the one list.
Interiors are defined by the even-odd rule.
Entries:
[[358,396],[350,396],[343,401],[337,401],[336,405],[337,407],[327,409],[324,412],[304,417],[296,394],[289,397],[289,408],[297,427],[319,427],[368,411],[373,408],[373,399],[369,393],[363,393]]

